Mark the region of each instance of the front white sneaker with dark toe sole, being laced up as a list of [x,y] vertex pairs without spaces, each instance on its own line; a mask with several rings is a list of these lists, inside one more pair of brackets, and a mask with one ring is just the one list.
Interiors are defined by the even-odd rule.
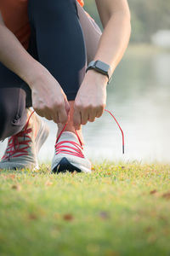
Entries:
[[55,143],[52,172],[91,172],[91,163],[84,156],[82,142],[77,134],[63,131]]

